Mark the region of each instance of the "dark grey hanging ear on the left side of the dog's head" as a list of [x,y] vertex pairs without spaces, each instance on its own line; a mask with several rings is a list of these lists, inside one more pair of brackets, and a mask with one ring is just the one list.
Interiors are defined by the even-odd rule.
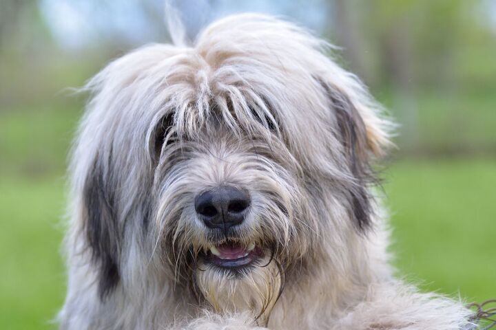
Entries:
[[[105,298],[119,281],[120,230],[116,220],[114,177],[98,156],[83,188],[83,225],[92,262],[99,270],[99,294]],[[108,164],[107,164],[108,165]]]

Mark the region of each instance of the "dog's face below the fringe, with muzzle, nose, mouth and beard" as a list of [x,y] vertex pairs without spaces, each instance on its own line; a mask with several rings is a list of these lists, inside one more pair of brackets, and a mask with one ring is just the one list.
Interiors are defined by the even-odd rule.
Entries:
[[[279,125],[256,119],[267,107],[244,113],[251,133],[229,110],[212,109],[195,137],[171,134],[159,143],[155,236],[171,276],[192,282],[200,300],[260,313],[277,298],[283,267],[316,241],[309,232],[316,228],[304,221],[309,196],[302,168]],[[221,111],[239,131],[219,119]]]

